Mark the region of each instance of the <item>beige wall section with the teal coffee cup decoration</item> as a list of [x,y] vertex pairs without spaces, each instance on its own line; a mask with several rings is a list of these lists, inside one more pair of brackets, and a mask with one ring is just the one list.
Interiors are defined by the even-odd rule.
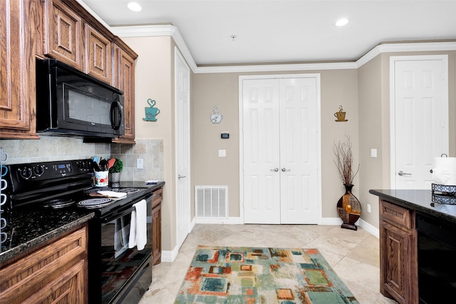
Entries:
[[[138,54],[135,62],[135,126],[138,139],[162,139],[163,188],[162,250],[176,246],[175,137],[174,137],[174,41],[170,36],[125,37]],[[147,99],[160,109],[157,121],[143,121]]]

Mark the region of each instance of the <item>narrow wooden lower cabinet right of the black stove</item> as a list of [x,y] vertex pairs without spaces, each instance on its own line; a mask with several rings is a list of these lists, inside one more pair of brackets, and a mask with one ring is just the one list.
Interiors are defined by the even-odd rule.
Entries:
[[152,265],[162,261],[162,194],[163,189],[153,192],[152,198]]

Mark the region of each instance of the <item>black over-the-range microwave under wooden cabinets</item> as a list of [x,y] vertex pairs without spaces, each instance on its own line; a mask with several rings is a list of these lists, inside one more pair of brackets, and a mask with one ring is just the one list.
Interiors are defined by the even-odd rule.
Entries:
[[110,141],[125,134],[123,101],[123,91],[93,76],[36,59],[37,132]]

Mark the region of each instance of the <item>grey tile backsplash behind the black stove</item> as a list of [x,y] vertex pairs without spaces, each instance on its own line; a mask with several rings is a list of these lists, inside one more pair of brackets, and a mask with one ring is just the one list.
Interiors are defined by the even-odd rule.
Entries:
[[[93,156],[120,158],[123,171],[120,181],[163,180],[162,139],[137,139],[136,144],[84,143],[83,138],[41,136],[39,140],[1,140],[0,147],[8,153],[6,164],[66,161]],[[143,159],[142,169],[136,160]]]

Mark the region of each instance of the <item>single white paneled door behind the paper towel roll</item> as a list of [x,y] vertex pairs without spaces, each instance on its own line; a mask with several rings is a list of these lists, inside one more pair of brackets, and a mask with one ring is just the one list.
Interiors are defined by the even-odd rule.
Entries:
[[434,158],[448,155],[447,56],[394,56],[392,186],[430,189]]

